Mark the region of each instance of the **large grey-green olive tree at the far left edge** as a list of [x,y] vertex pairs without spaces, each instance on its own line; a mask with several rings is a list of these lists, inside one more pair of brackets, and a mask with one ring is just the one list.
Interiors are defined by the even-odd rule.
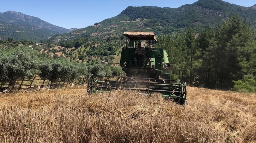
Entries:
[[39,73],[39,61],[35,56],[35,51],[26,48],[9,48],[3,50],[0,55],[0,73],[9,83],[12,89],[16,80],[23,77],[33,77]]

